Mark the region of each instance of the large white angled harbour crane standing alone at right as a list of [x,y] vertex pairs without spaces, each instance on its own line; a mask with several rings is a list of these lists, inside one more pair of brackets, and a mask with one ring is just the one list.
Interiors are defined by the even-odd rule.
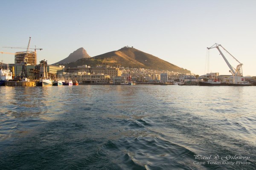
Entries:
[[243,78],[242,65],[243,64],[241,62],[239,62],[235,57],[233,57],[233,55],[230,54],[230,56],[232,56],[233,59],[235,59],[239,63],[239,65],[237,65],[236,68],[232,67],[232,65],[230,65],[230,63],[227,61],[226,57],[221,52],[219,47],[223,48],[224,51],[226,51],[228,54],[230,54],[224,47],[222,47],[220,44],[217,44],[217,43],[215,43],[211,47],[207,47],[207,49],[209,50],[211,48],[217,48],[218,51],[220,52],[221,56],[223,57],[223,59],[227,63],[227,66],[230,68],[230,72],[231,72],[231,74],[233,76],[233,83],[237,84],[239,82],[242,82],[242,78]]

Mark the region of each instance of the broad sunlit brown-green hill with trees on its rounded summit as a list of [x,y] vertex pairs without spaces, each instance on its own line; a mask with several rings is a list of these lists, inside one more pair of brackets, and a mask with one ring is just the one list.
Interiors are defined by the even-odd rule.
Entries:
[[155,57],[151,54],[137,50],[136,48],[124,47],[117,51],[111,51],[95,57],[82,58],[76,62],[64,64],[66,67],[76,67],[78,65],[110,65],[116,67],[121,65],[128,68],[147,68],[152,70],[168,70],[180,73],[190,73],[190,71],[180,68],[177,65],[166,62],[163,59]]

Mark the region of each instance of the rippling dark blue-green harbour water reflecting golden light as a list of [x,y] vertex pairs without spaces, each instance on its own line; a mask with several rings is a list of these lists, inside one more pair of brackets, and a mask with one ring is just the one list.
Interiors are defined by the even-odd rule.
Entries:
[[255,86],[0,87],[0,94],[3,170],[256,167]]

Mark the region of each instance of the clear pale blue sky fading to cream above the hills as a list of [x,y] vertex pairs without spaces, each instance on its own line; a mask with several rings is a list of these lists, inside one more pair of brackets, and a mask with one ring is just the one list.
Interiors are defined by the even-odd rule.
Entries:
[[[38,63],[52,64],[80,47],[93,57],[128,45],[202,75],[216,42],[244,64],[244,76],[256,76],[255,9],[255,0],[1,0],[0,51],[20,51],[2,47],[32,37],[43,48]],[[209,71],[230,74],[217,49],[210,53]]]

